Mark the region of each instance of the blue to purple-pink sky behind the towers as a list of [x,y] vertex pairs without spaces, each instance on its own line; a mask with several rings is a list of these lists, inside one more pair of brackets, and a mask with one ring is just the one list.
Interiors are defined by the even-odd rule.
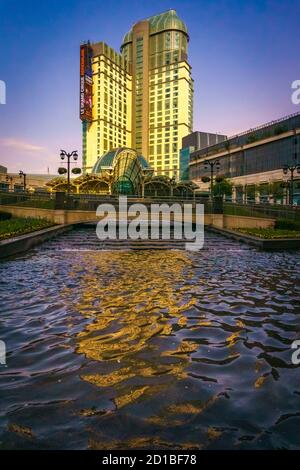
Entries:
[[299,0],[0,0],[0,165],[56,173],[60,148],[81,152],[80,42],[119,50],[134,22],[169,8],[190,34],[194,130],[232,135],[300,111]]

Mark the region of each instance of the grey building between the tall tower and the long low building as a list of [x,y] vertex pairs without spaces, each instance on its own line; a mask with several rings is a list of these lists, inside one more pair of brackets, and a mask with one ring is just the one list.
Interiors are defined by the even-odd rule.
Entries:
[[180,180],[189,180],[189,163],[192,152],[201,148],[215,145],[227,139],[226,135],[213,134],[211,132],[195,131],[182,139],[182,148],[180,150]]

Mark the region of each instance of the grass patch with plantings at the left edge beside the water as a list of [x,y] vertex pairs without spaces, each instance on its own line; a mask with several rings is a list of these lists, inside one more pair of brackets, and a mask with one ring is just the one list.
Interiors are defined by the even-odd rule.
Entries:
[[43,228],[52,227],[54,224],[47,219],[33,219],[31,217],[13,217],[0,221],[0,240],[17,237],[25,233],[35,232]]

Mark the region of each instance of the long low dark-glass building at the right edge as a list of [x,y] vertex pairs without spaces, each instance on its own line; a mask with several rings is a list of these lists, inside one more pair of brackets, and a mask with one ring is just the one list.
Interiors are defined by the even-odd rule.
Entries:
[[[205,160],[219,160],[219,175],[233,183],[232,199],[246,202],[287,202],[290,173],[285,165],[300,164],[300,113],[250,129],[190,155],[190,179],[209,190]],[[294,174],[294,202],[300,203],[300,174]]]

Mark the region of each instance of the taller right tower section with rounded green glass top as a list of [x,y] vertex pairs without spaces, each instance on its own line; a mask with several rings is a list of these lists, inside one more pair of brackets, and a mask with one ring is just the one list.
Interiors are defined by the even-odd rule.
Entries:
[[174,10],[136,23],[121,51],[132,64],[132,146],[156,174],[178,176],[182,138],[193,127],[188,32]]

